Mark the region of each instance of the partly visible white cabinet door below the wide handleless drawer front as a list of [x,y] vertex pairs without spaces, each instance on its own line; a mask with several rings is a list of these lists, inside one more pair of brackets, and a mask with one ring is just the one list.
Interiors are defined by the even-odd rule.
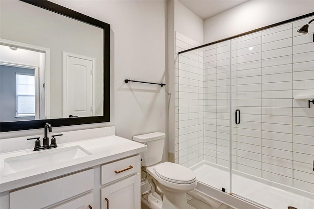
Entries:
[[93,209],[93,193],[85,194],[52,209]]

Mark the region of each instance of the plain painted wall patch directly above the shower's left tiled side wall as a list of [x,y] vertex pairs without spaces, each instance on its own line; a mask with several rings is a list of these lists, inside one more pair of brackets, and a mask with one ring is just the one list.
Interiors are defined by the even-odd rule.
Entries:
[[203,44],[203,24],[202,18],[186,8],[178,0],[174,0],[174,29],[175,31]]

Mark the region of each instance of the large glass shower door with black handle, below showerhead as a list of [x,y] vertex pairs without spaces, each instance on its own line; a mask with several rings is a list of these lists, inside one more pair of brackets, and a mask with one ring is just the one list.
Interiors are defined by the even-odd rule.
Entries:
[[241,114],[232,193],[271,209],[314,204],[314,115],[308,100],[294,99],[314,95],[314,28],[297,33],[311,19],[231,40],[233,111]]

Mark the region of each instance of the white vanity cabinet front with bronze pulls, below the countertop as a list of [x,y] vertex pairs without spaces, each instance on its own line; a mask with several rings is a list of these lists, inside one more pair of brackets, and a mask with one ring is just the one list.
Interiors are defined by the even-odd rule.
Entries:
[[97,165],[9,193],[9,209],[98,208],[140,209],[139,155]]

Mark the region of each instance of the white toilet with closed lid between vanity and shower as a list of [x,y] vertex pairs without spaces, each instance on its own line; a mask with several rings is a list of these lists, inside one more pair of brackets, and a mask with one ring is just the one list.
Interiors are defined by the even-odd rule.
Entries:
[[133,140],[147,145],[141,153],[142,166],[148,173],[151,193],[148,202],[157,209],[187,209],[185,192],[196,187],[193,171],[176,163],[160,163],[165,134],[154,132],[134,136]]

